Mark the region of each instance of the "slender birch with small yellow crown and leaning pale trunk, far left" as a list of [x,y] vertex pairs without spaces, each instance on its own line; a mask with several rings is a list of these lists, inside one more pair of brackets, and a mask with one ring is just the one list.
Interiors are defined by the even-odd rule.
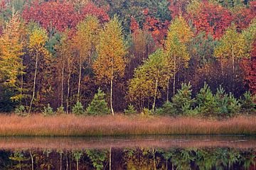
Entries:
[[46,34],[46,30],[43,28],[34,28],[29,35],[28,49],[30,52],[30,56],[34,59],[34,77],[33,77],[33,91],[31,97],[31,103],[28,110],[28,113],[31,113],[31,108],[33,104],[33,100],[36,94],[36,76],[38,74],[38,62],[42,62],[41,58],[47,59],[50,57],[48,50],[46,50],[46,41],[48,40],[48,36]]

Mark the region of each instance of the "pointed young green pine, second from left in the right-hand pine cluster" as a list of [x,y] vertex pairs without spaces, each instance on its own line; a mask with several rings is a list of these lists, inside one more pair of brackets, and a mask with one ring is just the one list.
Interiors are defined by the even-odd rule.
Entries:
[[209,115],[216,112],[215,98],[206,82],[196,95],[196,105],[196,110],[202,115]]

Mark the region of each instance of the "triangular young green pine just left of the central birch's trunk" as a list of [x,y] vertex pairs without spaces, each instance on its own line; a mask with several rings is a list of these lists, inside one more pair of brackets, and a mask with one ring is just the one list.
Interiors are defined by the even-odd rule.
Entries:
[[92,99],[92,102],[86,109],[90,115],[104,115],[110,113],[110,108],[107,107],[105,101],[105,94],[100,89],[97,90],[97,94]]

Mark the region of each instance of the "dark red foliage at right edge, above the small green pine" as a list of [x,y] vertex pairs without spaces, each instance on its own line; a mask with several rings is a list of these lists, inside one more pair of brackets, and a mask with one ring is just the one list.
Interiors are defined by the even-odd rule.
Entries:
[[242,67],[245,70],[245,81],[249,85],[252,94],[256,95],[256,40],[253,44],[250,60],[243,60]]

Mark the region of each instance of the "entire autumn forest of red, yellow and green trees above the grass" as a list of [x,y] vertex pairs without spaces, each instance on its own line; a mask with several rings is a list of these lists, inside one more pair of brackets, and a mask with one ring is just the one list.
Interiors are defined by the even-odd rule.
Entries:
[[256,1],[0,2],[0,112],[255,113]]

